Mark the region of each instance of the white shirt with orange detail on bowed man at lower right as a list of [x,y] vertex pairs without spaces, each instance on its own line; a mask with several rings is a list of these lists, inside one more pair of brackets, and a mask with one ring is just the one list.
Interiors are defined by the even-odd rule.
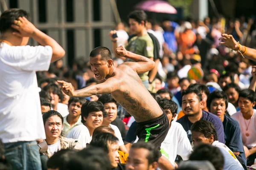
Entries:
[[214,141],[212,143],[212,146],[218,147],[221,150],[221,153],[224,157],[224,168],[223,170],[243,170],[243,166],[239,162],[238,159],[236,159],[236,156],[234,153],[228,148],[225,144]]

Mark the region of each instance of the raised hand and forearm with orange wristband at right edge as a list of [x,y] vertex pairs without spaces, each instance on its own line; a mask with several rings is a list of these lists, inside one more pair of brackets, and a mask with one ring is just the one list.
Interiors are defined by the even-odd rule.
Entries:
[[[226,45],[228,48],[231,48],[232,50],[235,50],[235,51],[239,49],[239,44],[238,42],[236,42],[236,40],[233,38],[232,35],[221,34],[221,36],[222,37],[219,38],[219,40],[222,40],[223,42],[220,42],[219,43],[220,45]],[[241,45],[240,52],[243,54],[244,57],[256,61],[256,49]]]

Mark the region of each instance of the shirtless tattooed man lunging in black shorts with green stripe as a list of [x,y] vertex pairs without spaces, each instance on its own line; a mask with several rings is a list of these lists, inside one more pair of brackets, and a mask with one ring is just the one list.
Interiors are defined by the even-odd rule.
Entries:
[[[169,130],[169,121],[138,76],[153,69],[155,63],[147,57],[126,51],[124,46],[117,47],[116,53],[135,62],[124,62],[115,67],[110,50],[106,47],[97,47],[90,53],[90,65],[100,84],[73,91],[71,83],[58,82],[63,84],[62,90],[69,96],[88,97],[111,93],[138,122],[136,134],[139,141],[151,142],[160,150]],[[167,161],[163,156],[159,159],[162,170],[173,169],[172,164]]]

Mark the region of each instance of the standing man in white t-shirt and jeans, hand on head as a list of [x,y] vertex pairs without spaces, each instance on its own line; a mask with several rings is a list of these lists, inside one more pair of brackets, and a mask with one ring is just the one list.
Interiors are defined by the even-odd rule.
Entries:
[[[47,71],[65,51],[29,16],[15,8],[0,17],[0,138],[14,169],[41,170],[36,140],[46,136],[35,71]],[[41,45],[27,45],[29,37]]]

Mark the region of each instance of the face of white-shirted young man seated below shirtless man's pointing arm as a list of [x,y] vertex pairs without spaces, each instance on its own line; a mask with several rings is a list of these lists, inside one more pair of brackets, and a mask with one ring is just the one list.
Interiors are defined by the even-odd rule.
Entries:
[[102,111],[90,112],[87,118],[84,117],[84,120],[86,121],[86,125],[88,127],[95,129],[96,127],[102,125],[103,113]]

